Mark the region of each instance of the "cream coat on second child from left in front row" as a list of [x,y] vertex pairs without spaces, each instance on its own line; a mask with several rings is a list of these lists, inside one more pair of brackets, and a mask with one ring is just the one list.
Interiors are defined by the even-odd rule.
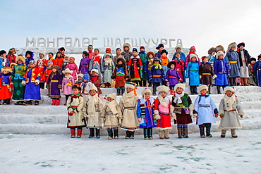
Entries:
[[88,95],[83,113],[87,117],[87,128],[102,128],[103,120],[99,118],[104,104],[99,99],[98,94],[95,96]]

